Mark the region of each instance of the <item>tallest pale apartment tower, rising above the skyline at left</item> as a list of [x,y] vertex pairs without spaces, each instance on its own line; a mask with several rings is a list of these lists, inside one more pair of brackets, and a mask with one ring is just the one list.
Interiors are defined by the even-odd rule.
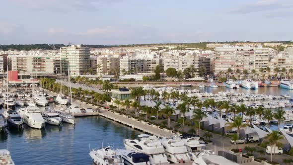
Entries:
[[60,48],[62,72],[71,75],[83,75],[90,67],[90,52],[88,47],[71,45]]

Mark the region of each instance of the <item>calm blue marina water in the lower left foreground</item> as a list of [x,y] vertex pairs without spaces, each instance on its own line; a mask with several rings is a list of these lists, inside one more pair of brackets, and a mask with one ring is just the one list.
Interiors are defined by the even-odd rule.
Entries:
[[25,125],[23,131],[8,129],[1,134],[0,149],[10,151],[16,165],[91,165],[91,148],[113,145],[124,147],[125,138],[136,138],[139,131],[94,116],[75,119],[75,126],[63,127],[46,124],[45,129],[32,129]]

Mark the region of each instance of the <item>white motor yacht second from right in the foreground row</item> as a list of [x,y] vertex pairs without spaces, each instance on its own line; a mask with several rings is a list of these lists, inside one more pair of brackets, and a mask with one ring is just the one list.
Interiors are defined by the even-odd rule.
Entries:
[[162,146],[165,149],[167,160],[172,163],[190,162],[190,156],[182,139],[174,137],[171,139],[161,140]]

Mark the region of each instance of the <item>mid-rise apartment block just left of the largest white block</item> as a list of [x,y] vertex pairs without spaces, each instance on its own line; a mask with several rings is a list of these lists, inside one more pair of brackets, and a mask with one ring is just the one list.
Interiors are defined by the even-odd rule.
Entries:
[[175,68],[176,71],[183,71],[193,65],[197,70],[199,70],[201,66],[204,66],[206,68],[206,74],[211,72],[211,59],[196,53],[167,54],[163,59],[164,71],[168,68]]

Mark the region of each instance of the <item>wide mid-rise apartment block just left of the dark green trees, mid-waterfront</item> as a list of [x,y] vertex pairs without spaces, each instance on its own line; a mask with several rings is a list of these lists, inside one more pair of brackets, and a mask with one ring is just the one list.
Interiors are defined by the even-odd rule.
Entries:
[[163,59],[159,55],[125,56],[120,59],[120,74],[153,73],[157,65],[163,70]]

